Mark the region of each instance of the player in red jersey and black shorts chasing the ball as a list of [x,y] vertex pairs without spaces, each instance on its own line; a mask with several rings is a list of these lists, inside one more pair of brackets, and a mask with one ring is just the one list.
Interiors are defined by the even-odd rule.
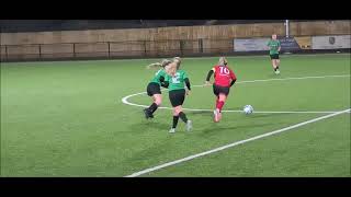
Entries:
[[214,121],[219,121],[222,118],[222,107],[227,100],[230,86],[236,82],[237,77],[227,66],[228,61],[225,57],[219,58],[218,65],[214,66],[207,74],[206,85],[210,85],[210,78],[213,73],[215,82],[213,83],[213,93],[216,95],[216,109],[214,113]]

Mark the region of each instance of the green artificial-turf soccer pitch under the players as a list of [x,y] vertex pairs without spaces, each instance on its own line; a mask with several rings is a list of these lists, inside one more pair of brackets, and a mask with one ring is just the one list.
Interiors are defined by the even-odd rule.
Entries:
[[1,62],[1,176],[127,176],[286,128],[140,176],[350,176],[350,113],[335,114],[351,105],[350,54],[282,55],[280,76],[268,56],[227,59],[238,80],[215,124],[201,85],[218,58],[183,58],[193,130],[176,134],[167,91],[154,119],[141,111],[155,59]]

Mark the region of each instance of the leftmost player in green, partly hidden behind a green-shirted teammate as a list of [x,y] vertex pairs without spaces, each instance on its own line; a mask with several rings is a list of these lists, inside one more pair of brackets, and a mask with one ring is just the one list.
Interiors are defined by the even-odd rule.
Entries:
[[171,60],[162,60],[162,62],[156,62],[148,66],[148,68],[160,68],[147,85],[147,95],[151,96],[154,102],[152,104],[144,109],[145,117],[154,118],[155,111],[161,105],[162,95],[160,86],[165,86],[165,78],[167,76],[165,67],[171,63]]

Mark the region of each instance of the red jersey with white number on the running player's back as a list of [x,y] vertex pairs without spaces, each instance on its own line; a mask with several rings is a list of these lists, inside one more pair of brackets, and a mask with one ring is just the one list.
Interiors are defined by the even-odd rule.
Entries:
[[231,80],[236,80],[237,77],[233,70],[226,66],[215,66],[212,69],[215,72],[215,84],[219,86],[230,86]]

